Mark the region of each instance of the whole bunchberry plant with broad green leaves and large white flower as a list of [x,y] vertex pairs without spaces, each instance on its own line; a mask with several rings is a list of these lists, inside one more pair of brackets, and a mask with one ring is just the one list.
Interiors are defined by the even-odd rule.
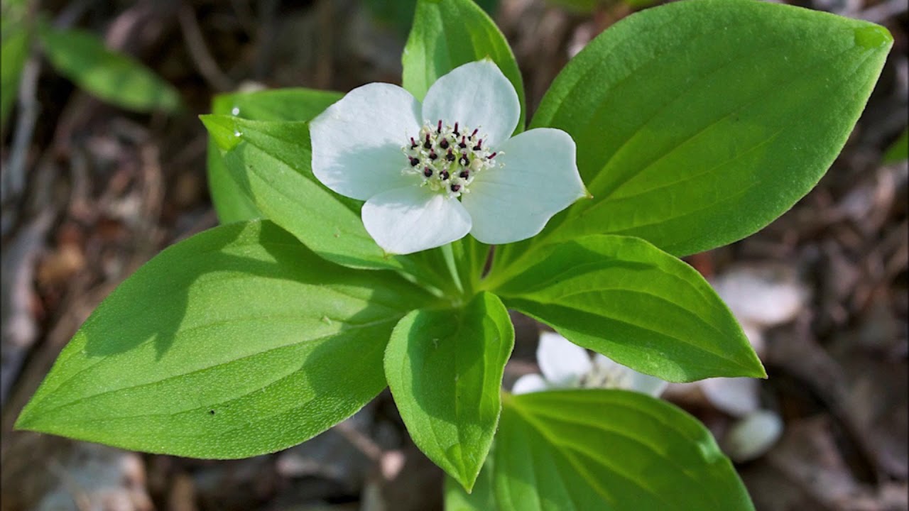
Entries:
[[[678,257],[806,194],[891,45],[864,21],[682,0],[595,37],[527,123],[492,20],[420,0],[401,87],[215,98],[202,121],[224,225],[108,296],[16,426],[255,456],[387,387],[449,509],[751,509],[704,426],[593,385],[614,372],[581,348],[671,382],[764,377]],[[576,345],[574,376],[597,388],[503,392],[508,309]]]

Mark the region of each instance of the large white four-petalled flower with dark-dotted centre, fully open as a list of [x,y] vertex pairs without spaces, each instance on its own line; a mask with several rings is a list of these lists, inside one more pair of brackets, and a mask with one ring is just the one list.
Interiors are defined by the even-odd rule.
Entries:
[[489,60],[439,78],[423,105],[399,86],[364,85],[310,123],[313,174],[366,201],[366,231],[389,254],[467,233],[520,241],[586,194],[571,136],[537,128],[509,138],[520,112]]

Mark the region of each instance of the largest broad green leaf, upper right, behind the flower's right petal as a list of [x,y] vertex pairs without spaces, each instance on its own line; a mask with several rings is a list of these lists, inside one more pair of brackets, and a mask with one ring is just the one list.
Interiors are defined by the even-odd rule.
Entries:
[[594,195],[534,243],[634,235],[687,255],[756,232],[824,175],[892,44],[878,25],[751,0],[625,18],[534,115],[574,137]]

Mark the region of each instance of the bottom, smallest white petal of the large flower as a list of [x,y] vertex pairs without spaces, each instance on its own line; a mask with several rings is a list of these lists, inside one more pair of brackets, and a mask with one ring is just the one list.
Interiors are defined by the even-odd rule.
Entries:
[[470,231],[470,215],[457,199],[419,185],[370,197],[361,213],[366,232],[389,254],[435,248]]

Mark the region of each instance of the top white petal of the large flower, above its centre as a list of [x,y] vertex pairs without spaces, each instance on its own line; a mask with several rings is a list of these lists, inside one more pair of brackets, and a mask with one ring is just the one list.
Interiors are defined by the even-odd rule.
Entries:
[[[455,67],[429,87],[421,121],[480,130],[484,144],[496,147],[514,133],[521,102],[514,86],[491,60]],[[469,135],[469,134],[468,134]]]

